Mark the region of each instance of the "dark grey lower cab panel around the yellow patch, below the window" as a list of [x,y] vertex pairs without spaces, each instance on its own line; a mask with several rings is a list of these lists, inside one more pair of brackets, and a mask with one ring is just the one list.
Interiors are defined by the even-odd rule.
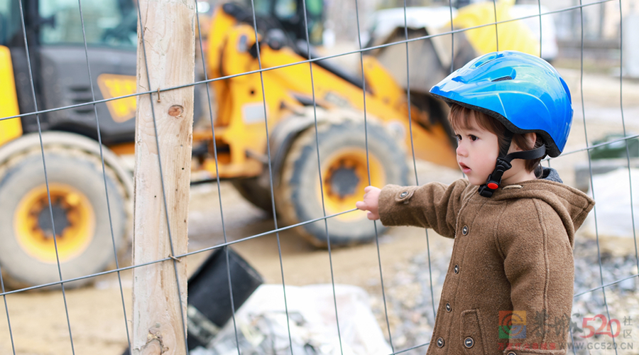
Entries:
[[[38,60],[32,62],[40,73],[36,80],[38,109],[53,109],[92,101],[91,85],[95,99],[104,99],[97,80],[100,74],[136,75],[136,51],[116,48],[89,48],[92,83],[89,82],[87,60],[82,45],[40,46],[35,51]],[[28,75],[26,55],[16,48],[11,50],[11,60],[16,77],[18,104],[21,112],[34,111],[31,82]],[[82,69],[80,69],[82,68]],[[111,118],[107,104],[96,105],[102,141],[105,144],[133,141],[135,119],[124,122]],[[97,128],[93,105],[75,107],[40,115],[44,130],[71,131],[97,139]],[[23,131],[38,131],[34,116],[23,118]]]

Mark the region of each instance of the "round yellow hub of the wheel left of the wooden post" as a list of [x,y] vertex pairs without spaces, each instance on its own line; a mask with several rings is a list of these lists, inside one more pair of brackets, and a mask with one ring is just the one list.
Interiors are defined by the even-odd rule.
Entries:
[[[87,249],[95,233],[95,214],[84,194],[65,184],[49,184],[55,242],[60,262]],[[29,191],[13,214],[13,230],[26,253],[43,263],[55,263],[55,244],[46,185]]]

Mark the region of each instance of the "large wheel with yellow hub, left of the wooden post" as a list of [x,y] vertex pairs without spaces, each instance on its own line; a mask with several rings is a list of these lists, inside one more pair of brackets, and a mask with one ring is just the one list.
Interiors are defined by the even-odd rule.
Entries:
[[[83,138],[84,139],[84,138]],[[87,233],[78,233],[77,248],[75,244],[69,247],[69,252],[60,260],[60,269],[63,280],[77,278],[92,273],[104,271],[109,264],[114,263],[115,249],[121,250],[126,246],[126,236],[129,226],[129,211],[127,204],[129,196],[126,188],[119,181],[118,176],[107,165],[107,187],[109,190],[109,204],[111,207],[111,220],[107,210],[107,198],[104,191],[104,178],[102,175],[102,162],[98,156],[62,146],[45,146],[45,161],[47,168],[48,184],[50,189],[59,188],[60,191],[72,191],[78,198],[80,209],[94,219],[70,220],[67,200],[60,202],[54,200],[53,204],[60,207],[55,221],[56,234],[64,232],[64,227],[70,228],[76,224],[86,223]],[[25,244],[24,240],[32,241],[33,236],[25,237],[18,231],[18,224],[24,224],[26,219],[21,214],[21,206],[28,205],[28,194],[36,192],[45,185],[42,155],[40,148],[23,151],[6,160],[0,169],[0,265],[5,279],[13,288],[42,285],[60,280],[58,264],[55,262],[55,249],[48,249],[46,257],[35,255],[37,249],[33,244]],[[56,187],[58,186],[58,187]],[[40,190],[41,191],[41,190]],[[80,197],[77,197],[80,196]],[[66,204],[66,205],[65,205]],[[50,212],[48,203],[45,206],[38,205],[33,209],[40,209],[37,219],[39,226],[49,225]],[[87,207],[90,206],[90,207]],[[86,208],[82,208],[86,207]],[[64,211],[64,212],[61,212]],[[66,213],[65,213],[66,212]],[[61,217],[62,216],[62,217]],[[62,218],[62,219],[60,219]],[[31,220],[30,220],[31,221]],[[60,223],[62,221],[62,223]],[[75,222],[74,222],[75,221]],[[111,238],[111,225],[113,238]],[[44,227],[44,230],[47,227]],[[62,230],[61,230],[62,229]],[[68,229],[67,229],[68,230]],[[46,234],[46,233],[45,233]],[[26,239],[25,239],[26,238]],[[48,236],[50,238],[50,235]],[[66,238],[66,236],[65,236]],[[86,239],[84,239],[86,238]],[[53,241],[52,238],[50,238]],[[62,241],[58,239],[58,250]],[[45,255],[45,254],[43,254]],[[65,288],[77,287],[91,282],[91,278],[65,283]]]

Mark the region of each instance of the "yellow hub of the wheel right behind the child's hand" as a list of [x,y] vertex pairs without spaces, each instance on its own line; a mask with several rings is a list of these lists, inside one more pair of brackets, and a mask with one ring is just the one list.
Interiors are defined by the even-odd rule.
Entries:
[[[364,196],[364,187],[386,185],[383,166],[374,155],[368,154],[371,183],[368,183],[366,151],[361,148],[343,148],[332,153],[322,164],[322,187],[327,214],[344,212],[355,207]],[[320,189],[317,189],[320,196]],[[342,220],[361,218],[360,214],[347,213],[337,217]]]

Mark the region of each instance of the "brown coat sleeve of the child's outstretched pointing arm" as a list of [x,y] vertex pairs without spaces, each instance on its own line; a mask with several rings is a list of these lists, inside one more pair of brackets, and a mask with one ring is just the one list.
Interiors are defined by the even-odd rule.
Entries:
[[457,214],[468,186],[464,179],[451,185],[386,185],[379,196],[379,217],[385,226],[422,226],[454,238]]

